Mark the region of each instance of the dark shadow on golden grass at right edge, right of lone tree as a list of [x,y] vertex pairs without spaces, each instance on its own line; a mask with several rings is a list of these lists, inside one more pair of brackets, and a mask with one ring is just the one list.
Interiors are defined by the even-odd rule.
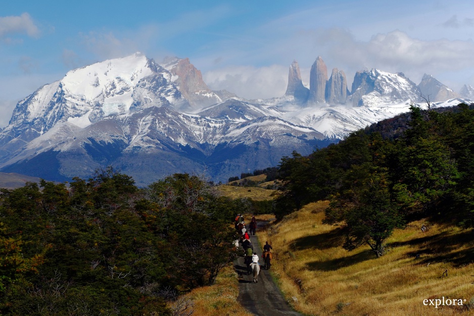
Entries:
[[[391,243],[389,247],[413,246],[418,249],[408,252],[409,256],[417,258],[418,264],[448,261],[459,267],[474,262],[474,235],[471,231],[464,231],[450,235],[446,232],[423,236],[406,242]],[[470,244],[471,247],[459,250],[459,248]]]

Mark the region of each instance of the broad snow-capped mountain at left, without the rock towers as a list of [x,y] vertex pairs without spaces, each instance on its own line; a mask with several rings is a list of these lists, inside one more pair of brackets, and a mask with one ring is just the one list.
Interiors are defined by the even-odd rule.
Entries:
[[275,108],[222,101],[232,95],[211,91],[187,59],[164,66],[134,54],[40,87],[0,133],[2,170],[68,180],[113,165],[139,185],[203,170],[225,181],[331,141]]

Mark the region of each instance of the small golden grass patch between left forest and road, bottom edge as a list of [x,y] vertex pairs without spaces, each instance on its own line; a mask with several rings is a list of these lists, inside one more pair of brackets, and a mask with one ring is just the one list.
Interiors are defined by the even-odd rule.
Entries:
[[238,276],[229,265],[222,269],[214,285],[194,289],[182,299],[194,303],[193,316],[252,316],[237,302],[238,296]]

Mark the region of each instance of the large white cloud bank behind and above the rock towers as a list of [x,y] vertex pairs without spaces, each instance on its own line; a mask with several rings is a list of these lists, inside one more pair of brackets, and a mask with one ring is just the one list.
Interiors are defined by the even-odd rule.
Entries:
[[[221,59],[225,60],[229,55],[235,61],[235,58],[239,60],[239,57],[248,56],[249,52],[234,50],[227,54],[221,51],[214,52],[207,59],[202,58],[198,65],[209,67],[204,71],[206,83],[213,89],[225,88],[252,99],[282,96],[293,59],[301,67],[303,81],[308,82],[309,69],[317,56],[321,56],[326,63],[328,75],[332,68],[343,70],[349,85],[356,71],[370,68],[403,72],[415,83],[419,83],[424,73],[435,76],[445,84],[456,81],[455,76],[458,76],[459,82],[470,83],[472,75],[468,75],[469,70],[474,73],[472,40],[421,40],[399,30],[376,34],[366,41],[356,40],[350,31],[339,28],[298,31],[289,37],[263,44],[253,52],[256,58],[279,58],[280,61],[288,61],[287,65],[260,68],[221,65],[219,68],[219,63],[213,63],[219,57],[223,56]],[[249,59],[242,59],[249,62]]]

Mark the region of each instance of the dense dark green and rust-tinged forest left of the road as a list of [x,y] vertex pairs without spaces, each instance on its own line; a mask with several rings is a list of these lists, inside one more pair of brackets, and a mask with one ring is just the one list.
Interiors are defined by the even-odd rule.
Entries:
[[112,168],[0,195],[0,314],[166,315],[234,258],[233,201],[197,176]]

